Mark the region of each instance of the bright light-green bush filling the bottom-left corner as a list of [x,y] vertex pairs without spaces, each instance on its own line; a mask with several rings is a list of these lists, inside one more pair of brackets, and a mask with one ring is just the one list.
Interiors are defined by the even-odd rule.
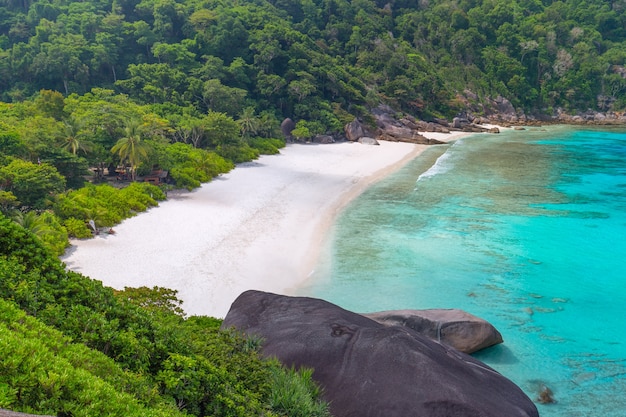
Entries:
[[0,407],[79,416],[176,416],[145,377],[0,299]]

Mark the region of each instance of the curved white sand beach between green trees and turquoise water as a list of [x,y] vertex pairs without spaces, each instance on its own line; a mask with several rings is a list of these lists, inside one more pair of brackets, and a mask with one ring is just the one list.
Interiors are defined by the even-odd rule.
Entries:
[[[428,133],[456,139],[464,133]],[[74,240],[62,260],[104,285],[178,290],[189,315],[224,317],[243,291],[288,294],[315,265],[338,211],[426,145],[293,144]]]

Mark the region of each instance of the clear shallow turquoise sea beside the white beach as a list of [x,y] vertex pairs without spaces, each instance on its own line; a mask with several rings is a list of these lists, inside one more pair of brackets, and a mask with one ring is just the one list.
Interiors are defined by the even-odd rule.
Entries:
[[626,130],[565,126],[429,148],[340,215],[301,295],[357,312],[460,308],[475,356],[543,417],[626,416]]

